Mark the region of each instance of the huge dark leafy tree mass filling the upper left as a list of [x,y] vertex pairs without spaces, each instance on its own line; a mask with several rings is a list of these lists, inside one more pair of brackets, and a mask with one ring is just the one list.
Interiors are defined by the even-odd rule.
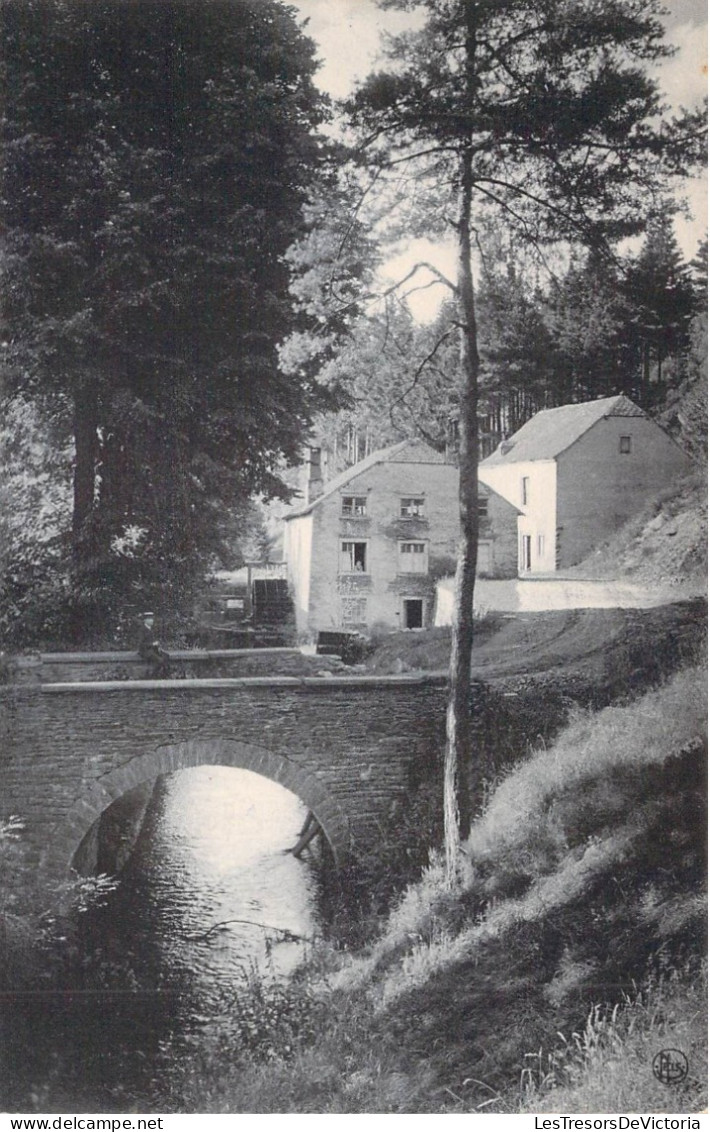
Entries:
[[277,359],[325,173],[314,46],[273,0],[2,0],[0,22],[5,394],[74,437],[75,592],[130,595],[223,551],[328,404]]

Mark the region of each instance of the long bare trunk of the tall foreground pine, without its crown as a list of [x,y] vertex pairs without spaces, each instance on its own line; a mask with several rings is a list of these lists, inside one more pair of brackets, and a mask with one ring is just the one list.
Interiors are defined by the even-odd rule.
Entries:
[[461,158],[459,215],[459,310],[461,315],[461,395],[459,441],[460,546],[454,589],[446,753],[444,756],[444,848],[446,877],[456,883],[461,841],[471,827],[471,651],[473,588],[478,558],[478,335],[471,266],[472,154]]

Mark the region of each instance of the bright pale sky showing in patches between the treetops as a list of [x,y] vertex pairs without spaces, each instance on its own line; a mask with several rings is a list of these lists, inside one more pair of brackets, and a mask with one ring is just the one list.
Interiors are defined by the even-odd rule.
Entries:
[[[290,6],[308,19],[307,34],[318,46],[322,67],[317,84],[335,98],[347,96],[359,78],[376,65],[380,33],[403,31],[411,26],[411,16],[400,11],[382,11],[375,0],[289,0]],[[666,100],[674,106],[691,108],[708,91],[708,6],[707,0],[666,0],[669,42],[676,45],[676,55],[659,68],[659,82]],[[693,220],[678,218],[676,234],[686,258],[692,258],[707,230],[707,178],[690,186],[687,192]],[[452,247],[412,241],[387,264],[387,276],[404,274],[417,259],[427,258],[445,274],[452,274]],[[411,301],[412,309],[421,317],[434,314],[435,293],[427,293]]]

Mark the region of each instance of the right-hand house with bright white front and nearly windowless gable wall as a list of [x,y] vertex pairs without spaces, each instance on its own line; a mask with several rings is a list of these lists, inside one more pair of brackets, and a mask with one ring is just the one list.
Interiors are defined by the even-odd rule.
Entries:
[[658,491],[692,470],[690,457],[628,397],[546,409],[479,468],[520,509],[520,574],[581,561]]

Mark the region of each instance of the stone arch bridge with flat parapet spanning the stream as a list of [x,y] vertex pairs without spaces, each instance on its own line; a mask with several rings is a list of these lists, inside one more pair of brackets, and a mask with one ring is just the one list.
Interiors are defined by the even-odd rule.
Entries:
[[200,764],[293,791],[342,865],[396,826],[442,749],[443,676],[92,679],[95,658],[51,661],[25,661],[0,688],[0,817],[20,816],[57,874],[114,800]]

